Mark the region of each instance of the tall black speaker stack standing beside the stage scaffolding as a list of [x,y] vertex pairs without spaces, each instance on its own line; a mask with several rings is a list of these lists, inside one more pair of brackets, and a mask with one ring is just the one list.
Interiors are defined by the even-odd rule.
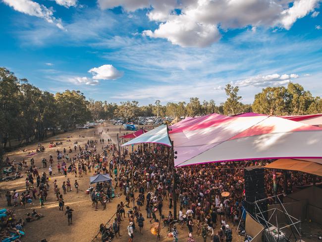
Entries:
[[[265,195],[265,183],[264,183],[265,170],[263,167],[252,166],[244,169],[245,179],[245,208],[254,218],[256,213],[259,213],[259,209],[255,204],[255,201],[266,198]],[[257,203],[261,211],[267,210],[267,201],[263,200]]]

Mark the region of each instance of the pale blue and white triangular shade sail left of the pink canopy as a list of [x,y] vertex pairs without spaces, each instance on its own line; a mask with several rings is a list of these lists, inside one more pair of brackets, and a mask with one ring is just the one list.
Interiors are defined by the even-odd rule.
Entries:
[[161,125],[150,130],[149,132],[141,134],[140,136],[126,142],[122,146],[138,143],[159,143],[166,146],[171,146],[166,125]]

